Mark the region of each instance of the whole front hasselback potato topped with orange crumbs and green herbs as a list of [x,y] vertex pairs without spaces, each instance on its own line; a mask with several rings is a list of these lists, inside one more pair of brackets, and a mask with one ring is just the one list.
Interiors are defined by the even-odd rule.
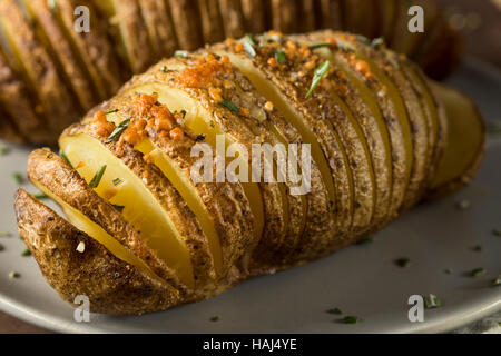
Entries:
[[[218,135],[223,171],[238,162],[239,175],[253,165],[246,150],[282,144],[310,158],[297,159],[310,188],[278,179],[278,155],[269,181],[262,170],[197,180],[196,150],[217,150]],[[160,310],[321,258],[459,189],[483,139],[470,99],[379,41],[229,39],[134,77],[63,131],[59,155],[33,151],[28,176],[68,220],[21,189],[19,233],[63,299],[88,296],[96,313]],[[204,177],[217,177],[219,159]]]

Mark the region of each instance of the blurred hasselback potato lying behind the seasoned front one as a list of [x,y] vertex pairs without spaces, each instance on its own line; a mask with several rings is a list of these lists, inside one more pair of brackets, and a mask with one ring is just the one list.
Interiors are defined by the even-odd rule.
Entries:
[[[424,9],[423,33],[407,30],[413,4]],[[82,6],[88,32],[75,28],[87,16]],[[446,76],[461,51],[431,0],[3,0],[0,137],[53,145],[62,128],[175,50],[323,28],[382,37],[433,78]]]

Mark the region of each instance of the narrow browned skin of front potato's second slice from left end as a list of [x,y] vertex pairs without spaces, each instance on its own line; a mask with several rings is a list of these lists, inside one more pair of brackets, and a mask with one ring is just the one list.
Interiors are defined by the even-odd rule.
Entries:
[[48,149],[32,151],[28,158],[28,178],[41,184],[62,201],[101,226],[130,253],[143,259],[155,274],[186,295],[175,273],[148,248],[134,227],[117,209],[90,189],[77,170],[59,156]]

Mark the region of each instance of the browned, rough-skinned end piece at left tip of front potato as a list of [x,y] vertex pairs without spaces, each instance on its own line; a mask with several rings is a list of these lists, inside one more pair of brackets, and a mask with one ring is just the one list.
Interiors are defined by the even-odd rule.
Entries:
[[[14,205],[19,234],[62,299],[73,304],[85,295],[91,313],[106,314],[145,314],[179,303],[175,289],[118,259],[27,191],[18,190]],[[84,253],[77,251],[80,243]]]

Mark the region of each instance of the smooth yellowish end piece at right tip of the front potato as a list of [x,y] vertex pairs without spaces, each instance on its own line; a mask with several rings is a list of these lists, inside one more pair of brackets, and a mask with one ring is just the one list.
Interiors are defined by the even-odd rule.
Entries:
[[450,195],[471,182],[483,160],[485,128],[475,103],[455,89],[433,82],[444,105],[449,137],[429,197]]

